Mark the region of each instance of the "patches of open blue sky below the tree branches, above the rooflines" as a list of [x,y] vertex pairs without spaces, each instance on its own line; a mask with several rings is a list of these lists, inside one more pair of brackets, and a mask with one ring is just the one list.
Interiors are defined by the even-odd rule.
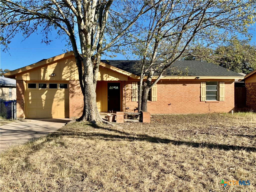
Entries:
[[[250,33],[253,34],[253,38],[251,40],[252,43],[256,42],[255,26],[256,25],[254,24],[254,30],[250,31]],[[1,47],[0,68],[15,70],[20,67],[36,63],[41,59],[51,58],[66,52],[66,42],[61,41],[60,39],[55,39],[55,35],[55,33],[52,33],[52,37],[50,39],[53,41],[50,45],[41,43],[40,34],[32,34],[24,41],[22,41],[24,39],[22,34],[16,35],[9,44],[9,53],[3,52]],[[117,55],[117,57],[114,59],[125,59],[121,54],[115,55]],[[101,59],[112,58],[103,56]]]

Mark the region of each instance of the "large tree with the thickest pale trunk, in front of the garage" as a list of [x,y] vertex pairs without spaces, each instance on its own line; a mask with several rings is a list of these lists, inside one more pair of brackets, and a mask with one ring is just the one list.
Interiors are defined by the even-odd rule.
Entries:
[[[50,43],[48,33],[57,30],[72,47],[83,93],[80,121],[102,121],[96,104],[96,83],[101,55],[119,39],[134,33],[135,22],[160,1],[113,0],[1,0],[1,43],[8,48],[18,32],[29,37],[40,33]],[[79,51],[81,49],[81,51]]]

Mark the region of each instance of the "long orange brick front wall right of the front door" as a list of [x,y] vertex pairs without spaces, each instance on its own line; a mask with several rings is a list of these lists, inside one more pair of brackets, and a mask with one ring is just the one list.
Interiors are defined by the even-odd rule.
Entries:
[[[124,85],[124,83],[123,83]],[[123,86],[123,111],[136,112],[138,103],[132,101],[132,82]],[[200,101],[200,81],[162,81],[157,83],[157,101],[147,103],[151,114],[186,114],[230,112],[234,110],[234,82],[225,82],[225,101]]]

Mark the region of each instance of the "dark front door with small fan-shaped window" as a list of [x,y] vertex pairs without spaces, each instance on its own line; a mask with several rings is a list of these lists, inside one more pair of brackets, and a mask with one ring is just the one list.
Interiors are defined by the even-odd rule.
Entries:
[[120,83],[108,83],[108,111],[120,111]]

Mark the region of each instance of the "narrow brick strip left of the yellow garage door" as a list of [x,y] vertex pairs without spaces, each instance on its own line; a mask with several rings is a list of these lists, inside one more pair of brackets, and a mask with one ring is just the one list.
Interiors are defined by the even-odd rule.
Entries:
[[16,115],[17,118],[25,118],[24,116],[24,83],[23,80],[16,80]]

